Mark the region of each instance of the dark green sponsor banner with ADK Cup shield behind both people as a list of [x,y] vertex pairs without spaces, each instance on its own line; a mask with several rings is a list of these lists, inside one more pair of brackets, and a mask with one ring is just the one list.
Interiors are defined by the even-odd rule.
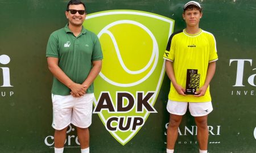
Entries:
[[[104,51],[95,82],[90,152],[166,152],[170,79],[162,56],[168,36],[185,27],[181,14],[188,1],[84,2],[84,25],[98,35]],[[254,153],[256,2],[198,2],[200,27],[213,33],[219,57],[210,83],[208,152]],[[67,24],[67,3],[0,1],[0,152],[54,152],[46,45],[49,35]],[[178,134],[176,152],[199,152],[189,112]],[[80,152],[73,125],[64,152]]]

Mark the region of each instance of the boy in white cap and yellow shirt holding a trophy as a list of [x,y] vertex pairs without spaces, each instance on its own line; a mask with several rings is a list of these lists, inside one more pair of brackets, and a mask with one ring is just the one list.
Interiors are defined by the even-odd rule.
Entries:
[[213,110],[209,83],[215,73],[218,56],[212,33],[199,28],[203,15],[201,10],[195,1],[184,5],[182,16],[187,27],[170,36],[164,53],[166,73],[171,80],[167,104],[170,113],[167,153],[174,152],[178,127],[187,107],[195,117],[199,151],[207,152],[207,116]]

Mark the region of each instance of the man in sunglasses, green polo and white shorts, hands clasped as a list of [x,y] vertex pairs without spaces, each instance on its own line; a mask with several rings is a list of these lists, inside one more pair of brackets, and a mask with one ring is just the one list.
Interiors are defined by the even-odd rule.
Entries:
[[63,152],[69,124],[76,126],[81,152],[89,152],[93,80],[101,70],[102,50],[98,37],[82,26],[86,16],[84,3],[69,1],[65,15],[68,24],[51,34],[46,51],[53,74],[55,152]]

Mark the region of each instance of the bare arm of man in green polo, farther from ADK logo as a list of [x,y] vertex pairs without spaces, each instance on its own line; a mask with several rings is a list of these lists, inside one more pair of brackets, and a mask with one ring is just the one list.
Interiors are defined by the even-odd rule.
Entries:
[[73,82],[64,72],[60,69],[58,62],[59,58],[47,57],[48,68],[51,73],[65,86],[71,89],[73,95],[80,97],[85,94],[86,87],[82,84]]

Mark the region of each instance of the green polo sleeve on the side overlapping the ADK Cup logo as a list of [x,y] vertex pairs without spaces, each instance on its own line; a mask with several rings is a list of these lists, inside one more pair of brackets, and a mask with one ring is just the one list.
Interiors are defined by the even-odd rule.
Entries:
[[93,43],[94,43],[94,47],[93,47],[93,53],[92,53],[92,61],[98,61],[103,59],[100,40],[96,35],[94,35]]

